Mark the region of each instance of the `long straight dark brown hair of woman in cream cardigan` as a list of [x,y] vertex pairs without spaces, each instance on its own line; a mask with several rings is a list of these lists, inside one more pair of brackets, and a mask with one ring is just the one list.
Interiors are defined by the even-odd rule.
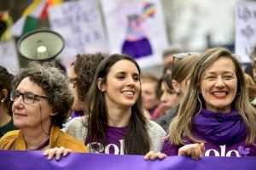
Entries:
[[[137,66],[135,59],[125,54],[113,54],[103,59],[97,67],[95,77],[86,95],[85,113],[88,114],[89,142],[101,142],[107,144],[105,128],[108,126],[108,108],[104,99],[104,93],[97,87],[98,78],[102,78],[102,84],[107,83],[108,72],[119,60],[130,60]],[[128,129],[125,133],[125,154],[144,155],[150,150],[150,139],[147,129],[147,119],[143,116],[142,94],[139,94],[137,102],[131,106],[131,117]]]

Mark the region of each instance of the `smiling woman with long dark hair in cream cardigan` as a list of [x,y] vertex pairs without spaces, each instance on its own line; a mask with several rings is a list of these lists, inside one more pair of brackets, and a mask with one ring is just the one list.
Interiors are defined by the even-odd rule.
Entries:
[[143,116],[140,76],[137,62],[128,55],[103,59],[86,97],[87,116],[71,120],[65,132],[84,142],[92,153],[144,155],[149,150],[160,151],[166,133]]

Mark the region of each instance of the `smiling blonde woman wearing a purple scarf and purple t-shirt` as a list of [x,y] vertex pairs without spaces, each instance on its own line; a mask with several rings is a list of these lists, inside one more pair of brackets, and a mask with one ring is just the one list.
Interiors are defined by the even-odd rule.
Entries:
[[205,150],[205,156],[256,156],[256,111],[230,51],[211,48],[201,54],[189,87],[162,151],[195,159]]

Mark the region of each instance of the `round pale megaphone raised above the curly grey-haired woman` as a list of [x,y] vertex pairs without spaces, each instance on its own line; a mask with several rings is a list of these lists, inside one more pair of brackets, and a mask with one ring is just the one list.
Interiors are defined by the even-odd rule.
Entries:
[[26,59],[49,60],[60,54],[64,46],[65,42],[60,34],[49,29],[40,29],[20,37],[17,48]]

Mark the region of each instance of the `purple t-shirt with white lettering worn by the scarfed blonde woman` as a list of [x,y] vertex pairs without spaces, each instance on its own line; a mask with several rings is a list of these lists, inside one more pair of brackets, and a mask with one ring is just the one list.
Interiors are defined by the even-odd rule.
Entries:
[[[194,133],[196,139],[204,139],[199,133]],[[204,156],[256,156],[256,148],[253,145],[245,144],[246,137],[240,139],[235,144],[213,144],[210,141],[205,143],[206,152]],[[254,140],[254,143],[256,140]],[[193,144],[192,141],[188,139],[186,144]],[[169,140],[164,141],[161,152],[165,153],[167,156],[177,156],[177,150],[182,147],[182,145],[170,144]]]

